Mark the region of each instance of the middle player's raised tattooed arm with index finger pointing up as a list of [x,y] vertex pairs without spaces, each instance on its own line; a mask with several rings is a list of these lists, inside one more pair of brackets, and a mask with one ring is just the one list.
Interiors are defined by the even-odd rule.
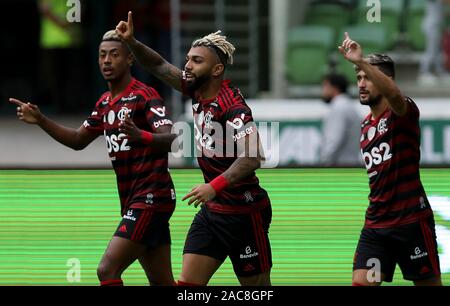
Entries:
[[148,72],[176,90],[182,91],[182,71],[134,37],[132,12],[128,12],[128,20],[126,22],[121,21],[117,25],[116,33],[128,45],[138,62]]

